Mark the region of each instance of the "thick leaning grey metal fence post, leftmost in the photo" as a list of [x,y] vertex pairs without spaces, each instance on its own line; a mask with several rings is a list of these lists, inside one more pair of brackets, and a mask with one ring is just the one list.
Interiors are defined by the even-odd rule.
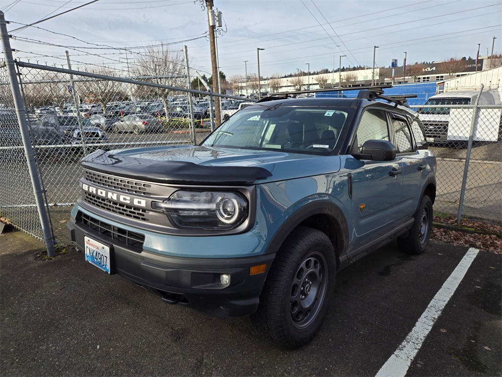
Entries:
[[24,108],[21,91],[19,90],[19,83],[16,73],[15,61],[12,56],[11,43],[9,34],[7,32],[7,23],[5,21],[4,12],[0,11],[0,40],[2,41],[2,49],[4,50],[5,66],[9,74],[9,81],[11,83],[12,96],[14,99],[14,106],[16,108],[16,115],[18,117],[19,128],[21,137],[23,139],[23,146],[25,150],[26,160],[28,162],[28,170],[33,185],[33,192],[35,194],[35,201],[37,203],[38,214],[42,226],[44,236],[44,243],[47,249],[48,256],[56,255],[54,250],[54,238],[52,237],[51,227],[45,208],[42,185],[39,180],[37,165],[35,161],[35,153],[31,144],[30,134],[28,132],[27,113]]

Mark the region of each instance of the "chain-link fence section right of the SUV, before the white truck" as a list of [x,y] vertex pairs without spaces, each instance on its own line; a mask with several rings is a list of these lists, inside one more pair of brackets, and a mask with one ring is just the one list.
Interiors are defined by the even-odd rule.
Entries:
[[437,158],[434,210],[502,221],[500,104],[417,106],[416,110]]

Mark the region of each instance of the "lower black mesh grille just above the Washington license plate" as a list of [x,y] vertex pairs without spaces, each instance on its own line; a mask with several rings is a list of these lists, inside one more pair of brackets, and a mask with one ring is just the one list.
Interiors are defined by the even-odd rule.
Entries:
[[107,224],[80,211],[77,214],[77,223],[99,233],[104,238],[113,240],[112,243],[114,244],[126,246],[136,252],[143,251],[145,235],[141,233],[131,232],[130,230]]

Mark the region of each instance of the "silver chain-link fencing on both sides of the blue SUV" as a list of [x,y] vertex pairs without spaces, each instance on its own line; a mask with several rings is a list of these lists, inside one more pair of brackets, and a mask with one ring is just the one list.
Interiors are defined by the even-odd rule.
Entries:
[[[20,88],[51,231],[68,242],[66,222],[96,149],[197,144],[214,127],[212,96],[152,82],[18,62]],[[0,216],[42,239],[9,79],[0,69]],[[234,101],[225,99],[221,101]],[[501,108],[419,106],[436,154],[435,211],[501,220]]]

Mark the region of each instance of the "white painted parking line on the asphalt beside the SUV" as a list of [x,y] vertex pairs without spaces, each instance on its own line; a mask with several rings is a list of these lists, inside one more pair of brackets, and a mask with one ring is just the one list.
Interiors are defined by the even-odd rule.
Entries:
[[465,253],[455,270],[444,282],[443,287],[441,287],[425,312],[418,319],[413,330],[411,330],[403,343],[396,349],[396,352],[394,352],[384,366],[376,373],[376,377],[404,377],[406,375],[411,362],[417,355],[427,334],[429,334],[432,326],[440,316],[451,296],[453,296],[453,293],[460,284],[460,281],[462,281],[478,252],[479,250],[474,248],[467,250],[467,253]]

